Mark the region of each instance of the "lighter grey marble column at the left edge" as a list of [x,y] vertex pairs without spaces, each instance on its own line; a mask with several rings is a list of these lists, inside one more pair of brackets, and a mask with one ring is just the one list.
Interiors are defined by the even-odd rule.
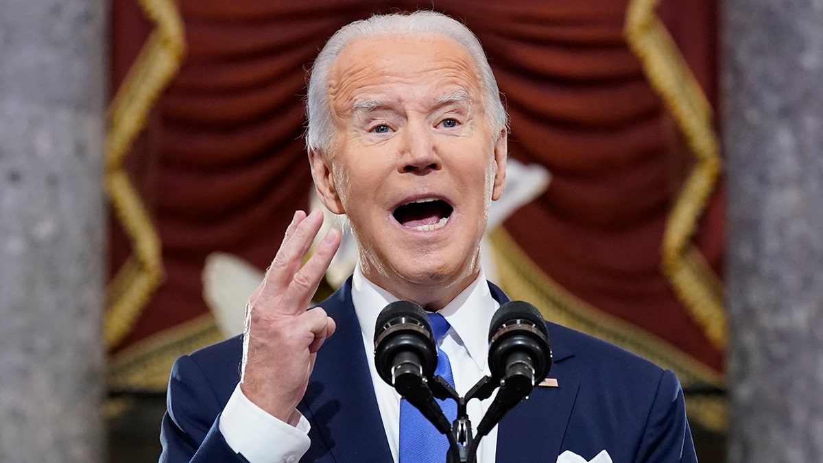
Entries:
[[0,461],[101,461],[108,2],[0,2]]

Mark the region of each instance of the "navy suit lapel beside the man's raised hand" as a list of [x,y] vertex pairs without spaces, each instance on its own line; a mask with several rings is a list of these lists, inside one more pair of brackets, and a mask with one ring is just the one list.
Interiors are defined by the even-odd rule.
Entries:
[[[351,303],[351,278],[322,306],[337,323],[337,330],[320,348],[305,394],[312,428],[317,429],[335,461],[392,461],[360,323]],[[314,447],[306,461],[319,458],[310,455]]]

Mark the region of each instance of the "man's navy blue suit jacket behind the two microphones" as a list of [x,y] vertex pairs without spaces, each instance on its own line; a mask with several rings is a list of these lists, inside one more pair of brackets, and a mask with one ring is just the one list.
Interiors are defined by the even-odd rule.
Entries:
[[[508,297],[490,283],[501,304]],[[311,423],[301,461],[390,463],[383,422],[351,303],[351,278],[321,304],[337,331],[320,349],[300,413]],[[500,422],[497,461],[697,461],[677,377],[612,344],[547,323],[558,387],[536,387]],[[239,381],[237,336],[174,363],[160,461],[245,461],[226,444],[219,417]],[[371,353],[368,353],[371,355]]]

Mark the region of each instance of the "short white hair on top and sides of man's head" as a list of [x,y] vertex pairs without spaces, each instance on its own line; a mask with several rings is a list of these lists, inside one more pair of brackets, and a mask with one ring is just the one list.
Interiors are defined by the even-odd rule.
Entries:
[[507,128],[508,116],[500,101],[500,90],[477,36],[462,23],[439,12],[393,13],[371,16],[343,26],[326,42],[314,60],[306,103],[309,118],[306,147],[310,151],[328,153],[333,147],[334,125],[332,108],[328,103],[328,78],[337,55],[352,40],[387,33],[439,34],[456,40],[472,55],[477,65],[483,89],[483,105],[492,133],[500,133]]

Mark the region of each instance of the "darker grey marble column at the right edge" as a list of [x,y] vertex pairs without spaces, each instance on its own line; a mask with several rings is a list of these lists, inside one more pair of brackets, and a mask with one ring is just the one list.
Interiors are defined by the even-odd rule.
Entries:
[[823,1],[723,3],[729,461],[823,461]]

